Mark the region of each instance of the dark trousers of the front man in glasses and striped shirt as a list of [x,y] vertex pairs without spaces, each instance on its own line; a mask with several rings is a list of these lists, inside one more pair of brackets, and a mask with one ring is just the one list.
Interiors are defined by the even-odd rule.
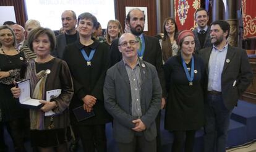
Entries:
[[[124,135],[125,136],[125,135]],[[135,136],[130,143],[118,143],[119,152],[156,152],[156,140],[147,141],[143,135]]]

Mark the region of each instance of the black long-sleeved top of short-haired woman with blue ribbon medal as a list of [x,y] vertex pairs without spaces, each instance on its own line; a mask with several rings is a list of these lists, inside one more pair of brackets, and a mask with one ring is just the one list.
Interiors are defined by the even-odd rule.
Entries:
[[[106,71],[109,68],[109,48],[104,43],[95,41],[90,48],[96,49],[91,60],[92,65],[87,66],[87,61],[83,58],[81,49],[84,49],[80,41],[67,45],[63,59],[69,66],[74,82],[74,96],[69,105],[69,109],[75,109],[83,105],[82,98],[86,95],[95,96],[96,104],[93,106],[95,116],[83,120],[79,124],[101,125],[110,122],[111,117],[106,112],[103,99],[103,85]],[[70,112],[72,123],[77,124],[74,112]]]

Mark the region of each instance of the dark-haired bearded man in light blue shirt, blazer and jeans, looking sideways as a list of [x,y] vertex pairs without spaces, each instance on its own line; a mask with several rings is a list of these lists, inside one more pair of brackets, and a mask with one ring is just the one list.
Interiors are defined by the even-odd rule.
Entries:
[[204,151],[226,151],[231,112],[239,96],[252,82],[252,69],[244,49],[227,42],[230,26],[224,20],[211,23],[213,47],[200,50],[207,67]]

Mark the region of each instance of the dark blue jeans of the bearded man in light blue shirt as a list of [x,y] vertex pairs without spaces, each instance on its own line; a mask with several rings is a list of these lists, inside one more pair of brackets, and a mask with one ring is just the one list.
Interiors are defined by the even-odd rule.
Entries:
[[221,95],[209,94],[207,98],[204,151],[224,152],[226,151],[226,138],[232,109],[226,108]]

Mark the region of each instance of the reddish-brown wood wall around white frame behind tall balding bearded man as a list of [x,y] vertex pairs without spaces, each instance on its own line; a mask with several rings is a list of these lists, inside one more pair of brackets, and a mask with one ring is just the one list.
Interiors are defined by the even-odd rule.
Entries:
[[148,11],[148,32],[147,35],[155,36],[157,31],[156,21],[156,1],[153,0],[114,0],[116,19],[119,20],[124,27],[124,19],[126,17],[126,6],[147,7]]

